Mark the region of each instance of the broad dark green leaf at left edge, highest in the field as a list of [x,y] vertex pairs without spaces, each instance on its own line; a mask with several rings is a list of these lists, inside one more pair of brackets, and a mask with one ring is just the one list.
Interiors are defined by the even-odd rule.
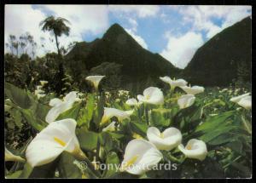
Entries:
[[28,109],[32,106],[32,97],[24,89],[19,89],[11,83],[5,83],[4,93],[12,100],[17,106]]

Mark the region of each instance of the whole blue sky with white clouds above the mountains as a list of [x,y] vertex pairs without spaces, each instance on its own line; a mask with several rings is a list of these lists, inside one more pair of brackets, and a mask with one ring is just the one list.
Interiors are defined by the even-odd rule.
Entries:
[[5,41],[9,34],[19,36],[25,31],[37,42],[44,37],[46,46],[37,50],[40,56],[55,51],[49,33],[38,27],[49,15],[61,16],[72,23],[70,36],[60,39],[65,48],[73,41],[90,42],[102,37],[109,26],[118,23],[144,49],[159,53],[183,68],[203,43],[251,12],[250,6],[7,5]]

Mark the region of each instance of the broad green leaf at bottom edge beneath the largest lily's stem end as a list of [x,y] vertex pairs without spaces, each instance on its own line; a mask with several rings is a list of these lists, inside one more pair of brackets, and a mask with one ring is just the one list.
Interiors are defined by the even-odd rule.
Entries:
[[82,173],[73,162],[75,158],[68,152],[62,152],[58,163],[58,170],[61,178],[81,178]]

